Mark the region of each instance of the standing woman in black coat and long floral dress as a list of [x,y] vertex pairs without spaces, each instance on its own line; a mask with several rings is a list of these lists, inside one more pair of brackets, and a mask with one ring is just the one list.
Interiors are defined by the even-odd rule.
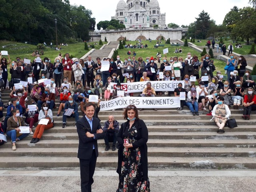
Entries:
[[138,118],[138,109],[129,105],[118,132],[119,185],[117,192],[150,192],[148,180],[148,128]]

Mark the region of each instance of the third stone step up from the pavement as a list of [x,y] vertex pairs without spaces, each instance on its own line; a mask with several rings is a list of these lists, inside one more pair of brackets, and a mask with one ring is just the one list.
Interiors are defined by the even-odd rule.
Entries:
[[[217,133],[216,133],[217,134]],[[38,143],[30,143],[32,135],[24,138],[24,140],[16,143],[17,148],[77,148],[78,139],[56,139],[54,140],[43,140],[41,139]],[[8,143],[0,146],[1,148],[10,148],[10,138],[7,138]],[[254,139],[148,139],[148,148],[151,147],[219,147],[219,148],[256,148]],[[105,147],[104,140],[98,140],[98,147]]]

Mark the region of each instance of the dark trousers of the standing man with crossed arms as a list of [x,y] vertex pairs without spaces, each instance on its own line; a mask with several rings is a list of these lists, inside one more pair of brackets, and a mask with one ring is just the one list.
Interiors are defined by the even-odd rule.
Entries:
[[80,178],[81,192],[92,192],[92,184],[94,182],[93,175],[96,167],[96,152],[92,151],[90,159],[79,159],[80,161]]

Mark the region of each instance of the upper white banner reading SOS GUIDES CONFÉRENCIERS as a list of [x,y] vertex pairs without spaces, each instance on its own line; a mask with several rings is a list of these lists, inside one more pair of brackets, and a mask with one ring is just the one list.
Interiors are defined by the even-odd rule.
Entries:
[[[146,88],[148,81],[133,82],[133,83],[121,83],[121,88],[127,93],[142,92]],[[174,91],[178,88],[178,84],[182,83],[184,88],[184,81],[150,81],[155,91]],[[116,88],[116,83],[110,83],[110,92]]]

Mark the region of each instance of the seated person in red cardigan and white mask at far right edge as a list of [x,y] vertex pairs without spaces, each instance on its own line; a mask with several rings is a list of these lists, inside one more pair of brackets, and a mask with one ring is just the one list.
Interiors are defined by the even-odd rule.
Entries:
[[253,88],[249,87],[247,94],[244,96],[244,113],[242,118],[244,120],[250,120],[250,114],[256,110],[256,95]]

